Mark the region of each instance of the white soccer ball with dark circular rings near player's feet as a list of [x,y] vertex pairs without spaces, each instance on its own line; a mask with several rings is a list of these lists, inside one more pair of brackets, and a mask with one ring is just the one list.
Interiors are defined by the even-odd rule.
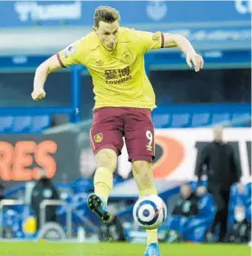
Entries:
[[146,230],[159,228],[166,216],[166,205],[158,195],[141,197],[133,208],[135,222]]

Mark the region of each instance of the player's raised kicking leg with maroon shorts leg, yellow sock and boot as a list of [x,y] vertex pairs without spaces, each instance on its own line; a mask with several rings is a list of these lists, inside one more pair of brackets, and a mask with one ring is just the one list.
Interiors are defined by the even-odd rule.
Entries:
[[88,206],[102,222],[111,221],[107,202],[112,189],[113,172],[117,166],[117,156],[121,153],[122,122],[115,108],[102,108],[94,111],[91,128],[92,151],[97,160],[94,174],[94,193],[88,197]]

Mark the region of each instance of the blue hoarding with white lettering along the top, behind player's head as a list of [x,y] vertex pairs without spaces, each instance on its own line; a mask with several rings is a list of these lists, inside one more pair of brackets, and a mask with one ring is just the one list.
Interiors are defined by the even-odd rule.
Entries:
[[250,22],[251,1],[4,1],[0,27],[92,25],[99,5],[121,13],[122,25]]

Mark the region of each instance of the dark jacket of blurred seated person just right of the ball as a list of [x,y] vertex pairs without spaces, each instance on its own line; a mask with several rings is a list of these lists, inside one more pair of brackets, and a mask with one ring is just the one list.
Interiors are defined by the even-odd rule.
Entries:
[[179,197],[175,205],[172,215],[190,217],[199,213],[199,197],[195,193],[191,193],[189,198],[183,199]]

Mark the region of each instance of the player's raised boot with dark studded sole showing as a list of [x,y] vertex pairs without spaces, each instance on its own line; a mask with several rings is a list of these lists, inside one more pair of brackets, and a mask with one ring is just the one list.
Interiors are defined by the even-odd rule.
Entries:
[[111,221],[111,213],[108,210],[107,203],[104,200],[96,195],[95,193],[91,193],[88,196],[88,207],[90,210],[98,215],[101,218],[102,222],[110,222]]

